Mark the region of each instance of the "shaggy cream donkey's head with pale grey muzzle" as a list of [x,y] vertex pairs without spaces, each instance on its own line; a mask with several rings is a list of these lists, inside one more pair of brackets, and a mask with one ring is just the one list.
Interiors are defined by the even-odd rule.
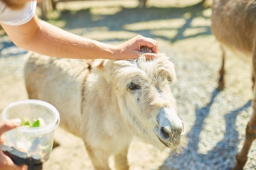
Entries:
[[162,151],[186,147],[185,128],[171,91],[175,69],[168,57],[106,62],[122,121],[137,137]]

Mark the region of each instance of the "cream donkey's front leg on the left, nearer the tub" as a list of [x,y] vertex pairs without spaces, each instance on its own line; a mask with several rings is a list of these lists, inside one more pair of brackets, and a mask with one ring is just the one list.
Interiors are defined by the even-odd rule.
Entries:
[[110,170],[108,166],[109,155],[107,153],[101,151],[100,148],[92,149],[86,145],[85,147],[94,166],[94,170]]

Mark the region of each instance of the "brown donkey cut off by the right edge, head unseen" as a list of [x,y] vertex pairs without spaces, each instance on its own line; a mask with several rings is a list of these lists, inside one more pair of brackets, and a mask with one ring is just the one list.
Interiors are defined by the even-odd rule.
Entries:
[[211,31],[221,44],[222,67],[218,89],[224,88],[225,50],[252,58],[254,99],[253,113],[246,128],[242,150],[236,156],[233,170],[243,170],[247,154],[256,139],[256,1],[255,0],[214,0],[211,16]]

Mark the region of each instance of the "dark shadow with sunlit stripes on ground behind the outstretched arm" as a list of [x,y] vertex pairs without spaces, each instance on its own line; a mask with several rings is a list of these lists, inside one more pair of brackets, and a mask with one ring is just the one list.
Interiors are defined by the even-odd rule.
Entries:
[[[80,11],[62,11],[60,18],[65,22],[66,30],[75,30],[74,33],[88,36],[90,32],[99,30],[97,40],[127,40],[128,33],[132,38],[140,34],[149,38],[161,38],[170,42],[176,42],[185,38],[193,38],[198,35],[210,35],[209,7],[203,7],[202,2],[189,7],[170,8],[124,8],[109,7],[107,10],[115,12],[111,14],[93,13],[93,9]],[[99,9],[100,10],[100,9]],[[207,11],[208,10],[208,11]],[[108,12],[109,12],[108,11]],[[207,13],[208,14],[205,14]],[[83,31],[81,30],[83,29]],[[86,30],[86,31],[84,31]],[[101,31],[109,31],[115,36],[101,37]],[[122,35],[117,37],[118,31]]]

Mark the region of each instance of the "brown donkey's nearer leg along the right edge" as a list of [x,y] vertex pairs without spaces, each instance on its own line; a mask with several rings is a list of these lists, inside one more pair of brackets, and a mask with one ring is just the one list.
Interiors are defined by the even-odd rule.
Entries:
[[[253,55],[253,69],[254,75],[256,73],[256,51],[254,51]],[[255,84],[255,83],[254,83]],[[242,150],[236,155],[236,165],[234,166],[233,170],[243,170],[243,166],[247,161],[247,155],[249,149],[252,145],[252,142],[256,139],[256,86],[254,85],[254,95],[253,95],[253,113],[252,117],[249,120],[247,127],[246,127],[246,135],[245,135],[245,142]]]

